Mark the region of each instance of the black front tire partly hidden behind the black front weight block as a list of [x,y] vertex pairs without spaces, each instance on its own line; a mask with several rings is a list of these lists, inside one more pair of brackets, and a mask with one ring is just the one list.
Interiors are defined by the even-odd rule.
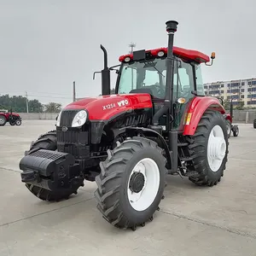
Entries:
[[[35,142],[32,142],[30,150],[26,152],[27,154],[32,154],[39,149],[48,149],[48,150],[57,150],[57,137],[56,131],[49,131],[40,137]],[[26,188],[29,189],[33,195],[37,196],[42,201],[61,201],[63,199],[68,199],[70,195],[73,193],[76,194],[77,189],[79,189],[79,185],[77,188],[71,189],[65,193],[54,193],[48,189],[43,189],[38,186],[34,186],[32,184],[26,183]]]

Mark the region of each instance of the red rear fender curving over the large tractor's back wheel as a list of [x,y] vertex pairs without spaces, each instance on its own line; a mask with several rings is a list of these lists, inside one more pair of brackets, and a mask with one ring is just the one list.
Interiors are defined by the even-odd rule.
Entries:
[[215,97],[196,96],[190,103],[183,135],[194,135],[201,116],[206,109],[214,109],[224,114],[225,110]]

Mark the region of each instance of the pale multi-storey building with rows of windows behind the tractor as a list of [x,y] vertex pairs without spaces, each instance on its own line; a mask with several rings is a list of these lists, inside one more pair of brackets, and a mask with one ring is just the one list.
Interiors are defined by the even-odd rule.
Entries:
[[204,84],[208,96],[224,100],[233,98],[234,105],[244,102],[244,107],[256,107],[256,79],[218,81]]

